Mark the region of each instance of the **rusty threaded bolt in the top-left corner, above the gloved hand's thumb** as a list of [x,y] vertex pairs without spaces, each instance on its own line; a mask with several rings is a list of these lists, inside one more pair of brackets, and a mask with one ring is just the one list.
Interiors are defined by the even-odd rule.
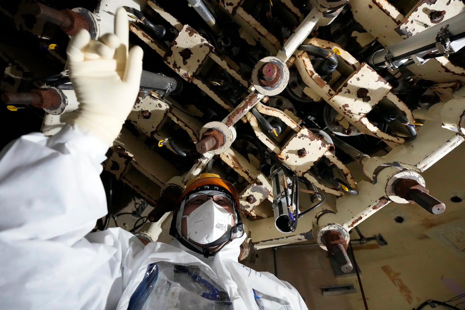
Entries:
[[68,35],[76,35],[81,29],[90,31],[90,25],[86,18],[69,9],[58,11],[41,3],[34,3],[32,13],[37,18],[60,26]]

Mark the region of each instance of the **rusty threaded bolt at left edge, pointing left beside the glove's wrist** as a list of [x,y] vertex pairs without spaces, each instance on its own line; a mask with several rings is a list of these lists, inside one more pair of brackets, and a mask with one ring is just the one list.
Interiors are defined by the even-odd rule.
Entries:
[[61,98],[53,89],[33,89],[31,92],[5,92],[1,95],[5,104],[31,105],[42,109],[56,109]]

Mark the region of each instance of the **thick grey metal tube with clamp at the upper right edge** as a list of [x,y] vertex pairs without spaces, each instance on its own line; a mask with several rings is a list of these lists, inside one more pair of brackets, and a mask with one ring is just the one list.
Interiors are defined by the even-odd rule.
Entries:
[[[427,52],[436,49],[436,36],[441,31],[441,27],[449,25],[447,31],[451,36],[460,35],[465,32],[465,12],[455,15],[454,17],[442,21],[437,25],[427,28],[421,33],[417,33],[410,38],[396,43],[392,46],[387,46],[385,49],[379,50],[370,57],[372,66],[384,66],[385,56],[388,51],[391,51],[392,60],[400,60],[408,58],[412,55],[421,52]],[[452,41],[452,40],[451,40]]]

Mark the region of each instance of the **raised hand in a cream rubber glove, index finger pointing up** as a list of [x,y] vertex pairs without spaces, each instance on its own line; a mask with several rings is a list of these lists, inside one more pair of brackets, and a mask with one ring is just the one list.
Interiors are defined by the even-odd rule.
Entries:
[[115,30],[99,40],[81,30],[69,42],[66,53],[70,79],[79,101],[72,124],[77,124],[108,145],[118,136],[137,99],[143,52],[134,46],[127,53],[127,13],[120,7]]

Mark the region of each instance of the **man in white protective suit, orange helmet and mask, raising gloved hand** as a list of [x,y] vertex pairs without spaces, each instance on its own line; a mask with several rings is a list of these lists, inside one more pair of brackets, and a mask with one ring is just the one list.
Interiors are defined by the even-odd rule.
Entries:
[[120,8],[114,34],[73,37],[73,119],[0,153],[0,309],[307,309],[292,285],[239,264],[238,195],[217,175],[182,192],[171,245],[89,233],[107,212],[100,163],[139,92],[143,53],[127,52],[128,36]]

